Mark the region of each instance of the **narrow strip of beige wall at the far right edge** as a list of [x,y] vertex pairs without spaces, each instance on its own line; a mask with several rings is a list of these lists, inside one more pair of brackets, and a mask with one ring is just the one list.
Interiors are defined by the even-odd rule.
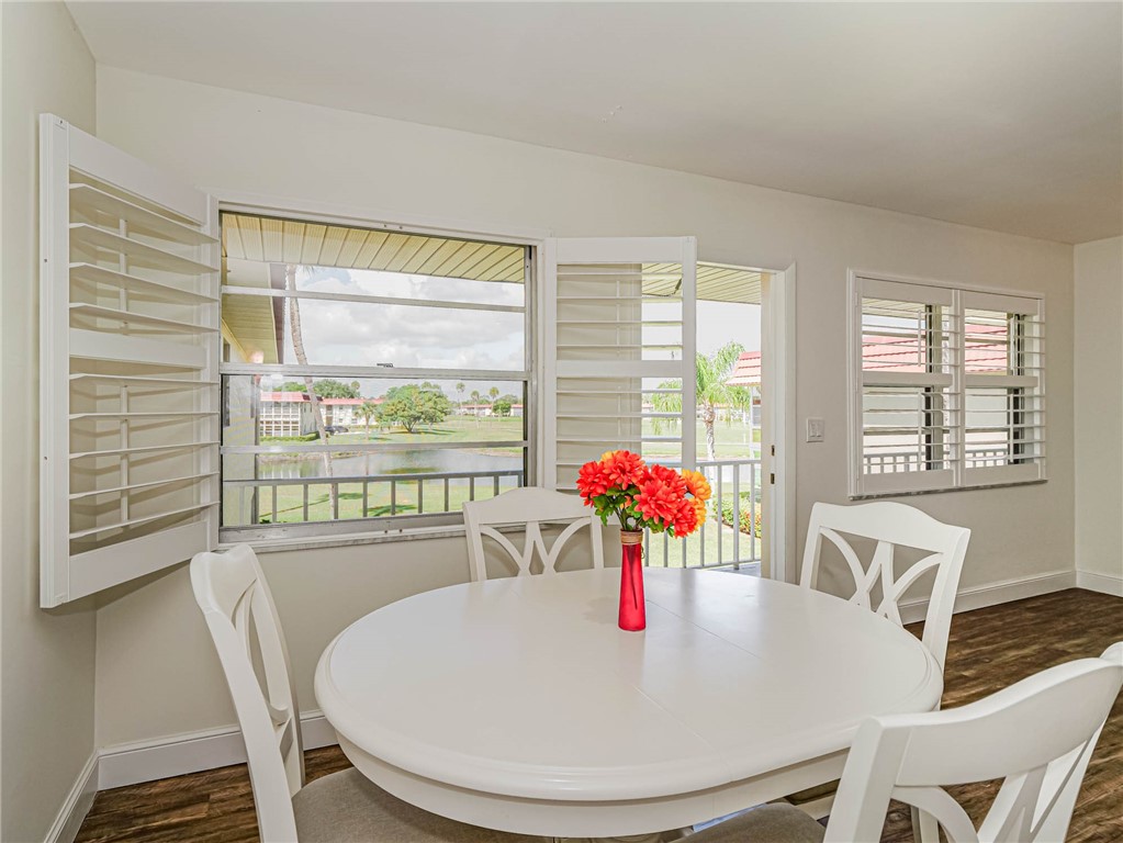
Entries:
[[1075,253],[1076,567],[1123,593],[1123,237]]

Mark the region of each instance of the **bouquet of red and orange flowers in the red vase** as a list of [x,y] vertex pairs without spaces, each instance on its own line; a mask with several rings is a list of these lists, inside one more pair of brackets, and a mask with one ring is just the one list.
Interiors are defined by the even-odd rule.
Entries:
[[705,521],[711,495],[701,473],[649,466],[631,451],[608,451],[586,462],[577,476],[577,491],[605,524],[615,515],[626,532],[647,529],[676,539]]

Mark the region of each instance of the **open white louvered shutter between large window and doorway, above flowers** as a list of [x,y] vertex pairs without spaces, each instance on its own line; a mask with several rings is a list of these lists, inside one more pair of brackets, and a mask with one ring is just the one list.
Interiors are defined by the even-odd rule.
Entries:
[[546,486],[573,489],[584,462],[619,448],[694,466],[696,249],[547,240]]

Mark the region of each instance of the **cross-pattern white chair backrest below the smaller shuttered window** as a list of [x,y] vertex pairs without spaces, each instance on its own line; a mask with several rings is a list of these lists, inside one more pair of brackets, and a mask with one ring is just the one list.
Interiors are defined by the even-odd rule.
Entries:
[[[846,535],[876,542],[868,567],[862,567]],[[827,539],[842,553],[853,576],[855,593],[850,601],[902,623],[902,595],[921,575],[934,569],[935,581],[924,616],[923,641],[942,668],[948,651],[956,589],[970,538],[971,531],[967,528],[941,523],[905,504],[887,501],[853,506],[816,503],[811,510],[800,585],[818,588],[823,539]],[[915,548],[926,551],[928,556],[895,579],[893,555],[897,547]],[[880,601],[875,606],[873,593],[878,586]]]

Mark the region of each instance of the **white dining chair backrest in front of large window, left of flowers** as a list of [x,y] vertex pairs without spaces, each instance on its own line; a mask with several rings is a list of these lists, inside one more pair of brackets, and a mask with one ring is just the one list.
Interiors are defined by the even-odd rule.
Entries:
[[[549,547],[541,530],[547,523],[567,523]],[[542,574],[556,574],[566,543],[587,526],[593,567],[604,567],[601,520],[576,495],[527,486],[486,501],[468,501],[464,504],[464,526],[474,583],[487,579],[485,535],[506,551],[518,567],[517,576],[524,577],[532,572],[536,556],[541,562]],[[503,526],[526,530],[521,550],[500,532],[499,528]]]

